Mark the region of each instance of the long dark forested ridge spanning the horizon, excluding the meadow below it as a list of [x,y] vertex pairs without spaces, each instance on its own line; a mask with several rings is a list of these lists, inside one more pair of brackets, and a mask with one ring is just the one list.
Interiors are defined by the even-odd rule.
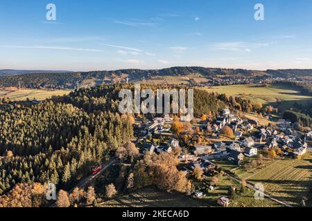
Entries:
[[[214,77],[300,77],[304,79],[312,78],[312,70],[244,70],[244,69],[225,69],[225,68],[203,68],[203,67],[173,67],[160,70],[99,70],[89,72],[64,72],[64,73],[28,73],[23,75],[2,76],[0,74],[0,88],[17,86],[21,82],[25,88],[55,88],[72,89],[76,83],[80,85],[88,84],[95,86],[102,83],[125,81],[128,77],[131,82],[144,81],[153,77],[187,77],[189,75],[201,75],[203,78],[211,79]],[[88,83],[87,83],[88,82]],[[91,82],[91,83],[90,83]]]

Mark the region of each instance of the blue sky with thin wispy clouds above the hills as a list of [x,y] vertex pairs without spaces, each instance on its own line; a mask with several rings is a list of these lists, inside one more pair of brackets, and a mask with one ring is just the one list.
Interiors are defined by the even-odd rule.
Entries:
[[1,69],[312,68],[310,0],[0,0],[0,30]]

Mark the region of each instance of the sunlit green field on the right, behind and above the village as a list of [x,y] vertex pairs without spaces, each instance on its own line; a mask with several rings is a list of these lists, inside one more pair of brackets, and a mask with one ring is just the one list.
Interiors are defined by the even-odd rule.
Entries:
[[263,105],[272,105],[281,110],[289,108],[295,102],[302,103],[312,99],[312,97],[300,95],[300,92],[294,88],[284,88],[275,85],[269,85],[267,87],[253,84],[214,86],[205,88],[205,90],[210,93],[214,92],[250,99],[254,104],[260,102]]

